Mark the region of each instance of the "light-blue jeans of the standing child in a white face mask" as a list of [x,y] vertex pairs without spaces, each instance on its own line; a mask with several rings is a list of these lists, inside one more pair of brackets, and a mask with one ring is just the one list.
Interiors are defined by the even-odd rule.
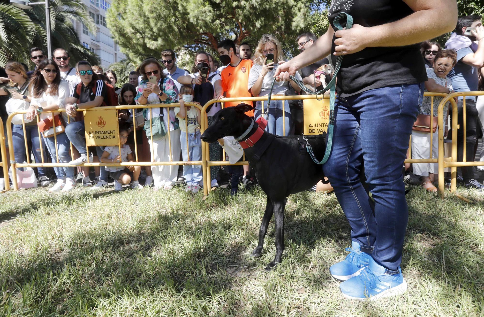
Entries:
[[[187,149],[186,149],[186,132],[181,131],[180,143],[181,143],[181,156],[184,161],[188,161]],[[190,152],[190,160],[198,161],[202,158],[202,141],[200,140],[200,130],[194,133],[188,133],[188,149]],[[183,177],[187,184],[200,184],[203,179],[202,166],[201,165],[183,165]]]

